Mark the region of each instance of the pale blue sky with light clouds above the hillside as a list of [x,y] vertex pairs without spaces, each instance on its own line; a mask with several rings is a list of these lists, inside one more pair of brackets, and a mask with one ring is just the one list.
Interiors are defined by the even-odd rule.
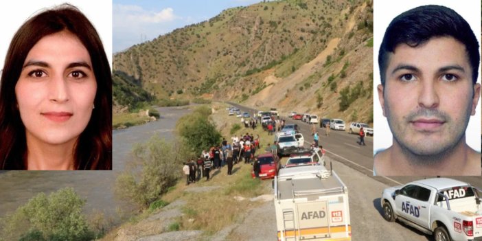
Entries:
[[218,15],[222,10],[262,0],[114,0],[113,51]]

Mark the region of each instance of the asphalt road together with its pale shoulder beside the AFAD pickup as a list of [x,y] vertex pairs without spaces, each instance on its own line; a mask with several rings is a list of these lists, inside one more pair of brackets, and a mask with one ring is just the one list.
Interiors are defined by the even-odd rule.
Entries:
[[[250,113],[250,115],[257,112],[253,108],[229,104],[240,108],[242,112]],[[300,132],[305,138],[305,146],[310,145],[313,139],[308,124],[286,116],[280,115],[280,118],[285,119],[288,124],[298,124],[301,128]],[[317,130],[320,135],[319,144],[327,151],[328,158],[332,160],[333,170],[349,190],[353,240],[433,240],[431,236],[426,236],[400,222],[385,221],[380,206],[380,197],[385,188],[433,176],[373,176],[373,137],[365,137],[367,146],[359,146],[358,135],[331,130],[330,137],[325,137],[325,130],[319,128],[319,125]],[[285,161],[282,160],[282,163]],[[327,163],[327,167],[329,165]],[[482,187],[480,176],[452,176],[451,178]]]

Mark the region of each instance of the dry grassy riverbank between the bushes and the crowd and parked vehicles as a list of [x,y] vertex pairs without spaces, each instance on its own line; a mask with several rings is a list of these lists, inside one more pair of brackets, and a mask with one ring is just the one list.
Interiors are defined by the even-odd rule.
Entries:
[[[222,136],[230,141],[231,127],[241,124],[240,119],[227,115],[226,104],[216,103],[211,107],[213,114],[210,118]],[[234,135],[246,132],[260,135],[262,146],[271,140],[261,126],[255,130],[242,127]],[[185,185],[185,180],[180,179],[161,198],[169,205],[144,211],[111,230],[102,240],[231,240],[242,237],[242,230],[251,229],[240,227],[252,223],[245,223],[245,220],[252,220],[255,210],[266,211],[263,207],[272,202],[271,181],[252,179],[251,170],[251,165],[238,163],[231,176],[227,175],[225,166],[211,172],[209,181],[204,178]],[[267,232],[268,237],[275,233],[275,225],[271,229]],[[245,234],[249,236],[249,233]]]

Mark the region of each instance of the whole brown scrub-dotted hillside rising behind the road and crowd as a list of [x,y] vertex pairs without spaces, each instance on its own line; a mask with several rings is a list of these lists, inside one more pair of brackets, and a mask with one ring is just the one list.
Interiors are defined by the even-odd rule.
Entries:
[[371,122],[372,13],[371,1],[361,0],[231,8],[115,54],[113,69],[159,98]]

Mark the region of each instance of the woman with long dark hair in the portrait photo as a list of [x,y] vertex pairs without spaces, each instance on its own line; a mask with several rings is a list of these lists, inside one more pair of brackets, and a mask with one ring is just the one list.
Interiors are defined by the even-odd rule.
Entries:
[[69,4],[27,20],[0,80],[0,170],[111,170],[112,76],[99,35]]

